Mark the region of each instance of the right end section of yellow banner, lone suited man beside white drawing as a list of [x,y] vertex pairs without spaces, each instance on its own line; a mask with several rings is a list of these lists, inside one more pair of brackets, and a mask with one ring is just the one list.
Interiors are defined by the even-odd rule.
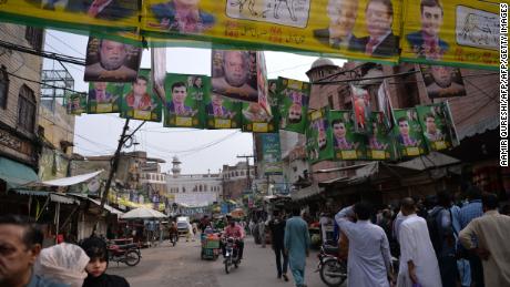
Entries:
[[499,4],[406,0],[401,60],[489,68],[499,63]]

